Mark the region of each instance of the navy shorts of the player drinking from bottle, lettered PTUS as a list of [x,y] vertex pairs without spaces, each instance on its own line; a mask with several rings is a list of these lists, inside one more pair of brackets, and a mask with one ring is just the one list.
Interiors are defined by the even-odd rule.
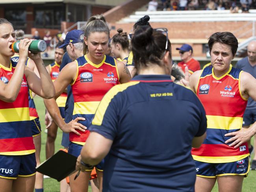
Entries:
[[35,175],[35,153],[29,155],[0,155],[0,177],[17,179]]

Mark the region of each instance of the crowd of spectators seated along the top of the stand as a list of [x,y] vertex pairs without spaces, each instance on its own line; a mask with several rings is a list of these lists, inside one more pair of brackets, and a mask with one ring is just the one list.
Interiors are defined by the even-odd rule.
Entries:
[[249,13],[249,9],[256,9],[256,0],[152,0],[148,3],[148,11],[230,9],[237,13],[239,8],[243,13]]

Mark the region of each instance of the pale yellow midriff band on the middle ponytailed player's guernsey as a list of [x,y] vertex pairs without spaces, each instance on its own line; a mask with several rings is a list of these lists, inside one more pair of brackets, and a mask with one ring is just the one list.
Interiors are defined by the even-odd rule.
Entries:
[[95,114],[100,102],[76,102],[73,114]]

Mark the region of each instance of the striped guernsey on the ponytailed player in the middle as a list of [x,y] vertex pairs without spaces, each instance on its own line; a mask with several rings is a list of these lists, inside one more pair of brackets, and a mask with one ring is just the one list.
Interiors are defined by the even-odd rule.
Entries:
[[[76,63],[76,80],[71,84],[74,96],[73,119],[84,117],[86,120],[80,123],[88,127],[103,96],[111,87],[119,84],[117,63],[113,57],[108,55],[105,55],[98,65],[89,61],[86,55],[76,59]],[[81,135],[70,132],[69,140],[84,145],[89,136],[89,130],[77,131]]]

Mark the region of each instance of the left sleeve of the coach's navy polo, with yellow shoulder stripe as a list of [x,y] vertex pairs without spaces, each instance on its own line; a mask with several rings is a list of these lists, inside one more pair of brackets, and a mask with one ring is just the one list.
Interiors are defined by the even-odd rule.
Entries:
[[121,103],[117,102],[115,96],[113,98],[109,98],[109,96],[109,94],[106,94],[100,102],[89,130],[99,133],[105,138],[114,140],[117,135],[117,114],[119,114],[118,108]]

